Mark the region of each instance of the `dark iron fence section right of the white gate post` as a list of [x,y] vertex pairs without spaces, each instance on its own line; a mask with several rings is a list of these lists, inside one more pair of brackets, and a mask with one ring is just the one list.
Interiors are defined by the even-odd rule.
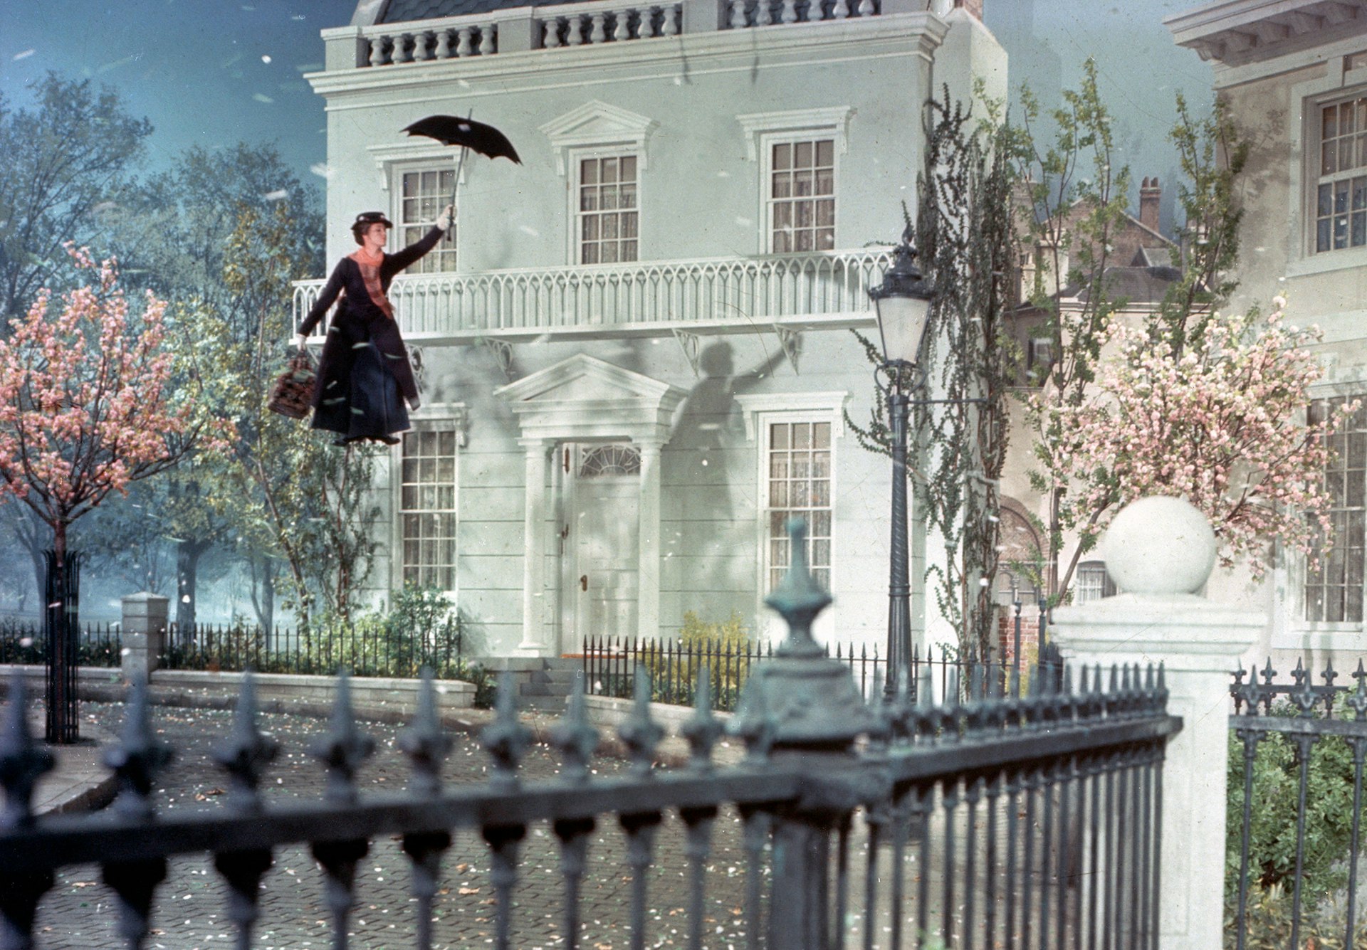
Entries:
[[[1359,920],[1367,670],[1349,678],[1271,660],[1233,674],[1226,946],[1362,947]],[[1247,682],[1245,682],[1247,677]],[[1236,871],[1237,868],[1237,871]]]

